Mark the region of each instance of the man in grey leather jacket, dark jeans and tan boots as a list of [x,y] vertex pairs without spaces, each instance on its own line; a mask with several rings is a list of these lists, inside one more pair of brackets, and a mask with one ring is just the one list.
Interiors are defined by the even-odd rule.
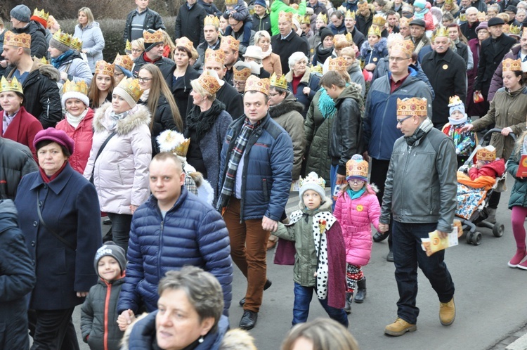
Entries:
[[426,98],[397,99],[394,121],[403,137],[393,145],[379,219],[379,231],[392,226],[399,300],[397,318],[384,333],[394,337],[417,330],[417,266],[437,293],[441,325],[455,320],[455,287],[445,250],[428,257],[421,247],[421,238],[429,233],[444,238],[452,231],[456,209],[454,142],[434,128],[428,109]]

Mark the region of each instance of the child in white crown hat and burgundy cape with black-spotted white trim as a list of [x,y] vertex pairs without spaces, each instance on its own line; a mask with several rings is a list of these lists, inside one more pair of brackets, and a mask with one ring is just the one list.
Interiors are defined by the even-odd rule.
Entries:
[[346,249],[339,222],[331,214],[332,200],[325,181],[312,171],[300,178],[300,209],[289,224],[278,223],[279,238],[295,242],[294,306],[292,324],[307,321],[313,291],[330,318],[348,327],[344,312]]

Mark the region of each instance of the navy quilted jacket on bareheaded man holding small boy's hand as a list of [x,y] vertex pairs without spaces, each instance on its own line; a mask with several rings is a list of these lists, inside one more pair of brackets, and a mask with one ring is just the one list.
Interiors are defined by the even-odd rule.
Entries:
[[131,223],[126,278],[117,310],[157,310],[157,285],[167,271],[185,265],[203,268],[218,278],[228,316],[233,282],[228,231],[221,215],[181,188],[181,195],[164,220],[157,200],[150,195],[138,207]]

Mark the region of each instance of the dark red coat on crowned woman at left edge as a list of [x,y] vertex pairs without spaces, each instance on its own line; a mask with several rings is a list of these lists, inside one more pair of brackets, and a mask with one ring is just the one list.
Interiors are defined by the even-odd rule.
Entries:
[[[5,111],[0,111],[0,119],[4,119]],[[0,124],[0,130],[4,134],[4,123]],[[33,140],[34,136],[37,135],[37,132],[42,130],[42,124],[40,124],[39,119],[35,118],[33,115],[30,115],[25,108],[20,107],[18,113],[15,115],[13,122],[9,124],[4,138],[22,143],[22,145],[27,145],[30,148],[33,157],[37,160],[37,151],[34,149]],[[1,135],[1,134],[0,134]]]

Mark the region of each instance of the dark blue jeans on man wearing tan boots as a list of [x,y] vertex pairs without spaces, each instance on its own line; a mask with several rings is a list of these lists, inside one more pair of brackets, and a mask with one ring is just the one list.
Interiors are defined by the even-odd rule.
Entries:
[[417,266],[427,276],[436,291],[439,302],[450,302],[454,296],[454,283],[444,263],[445,251],[441,250],[427,257],[421,247],[421,238],[436,229],[437,223],[401,223],[392,221],[393,262],[399,290],[397,315],[408,323],[415,324],[419,308],[417,297]]

